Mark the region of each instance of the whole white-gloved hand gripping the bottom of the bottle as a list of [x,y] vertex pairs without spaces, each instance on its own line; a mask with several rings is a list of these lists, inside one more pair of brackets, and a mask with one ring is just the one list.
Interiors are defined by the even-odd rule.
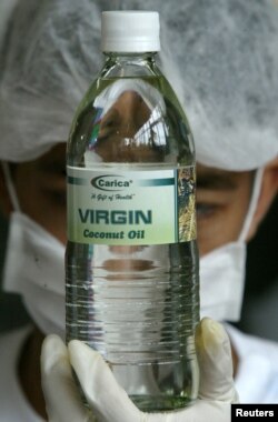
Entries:
[[[42,345],[42,388],[50,422],[228,422],[238,401],[232,380],[229,338],[222,325],[203,319],[197,328],[200,392],[195,404],[167,413],[143,413],[118,385],[99,353],[73,340],[68,349],[57,335]],[[90,410],[72,379],[73,366]],[[95,416],[93,416],[95,415]]]

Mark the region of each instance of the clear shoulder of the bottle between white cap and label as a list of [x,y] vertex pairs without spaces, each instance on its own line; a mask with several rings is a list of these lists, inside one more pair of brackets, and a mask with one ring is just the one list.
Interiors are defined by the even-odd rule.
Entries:
[[191,165],[192,134],[167,78],[153,61],[120,62],[107,61],[80,104],[68,143],[70,161],[90,154],[95,162]]

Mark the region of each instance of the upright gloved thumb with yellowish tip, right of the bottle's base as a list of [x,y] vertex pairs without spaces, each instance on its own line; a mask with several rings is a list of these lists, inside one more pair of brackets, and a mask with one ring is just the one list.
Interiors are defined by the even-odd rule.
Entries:
[[200,366],[199,398],[238,402],[231,346],[224,326],[209,318],[202,319],[196,330],[196,349]]

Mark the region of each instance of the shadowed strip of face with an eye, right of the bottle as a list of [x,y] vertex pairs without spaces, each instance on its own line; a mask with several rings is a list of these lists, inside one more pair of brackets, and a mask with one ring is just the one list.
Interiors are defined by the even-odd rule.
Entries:
[[236,241],[249,208],[254,173],[197,165],[197,235],[200,255]]

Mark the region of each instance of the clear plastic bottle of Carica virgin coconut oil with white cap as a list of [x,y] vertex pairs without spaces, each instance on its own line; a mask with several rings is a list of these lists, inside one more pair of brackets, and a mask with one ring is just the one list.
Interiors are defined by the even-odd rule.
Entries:
[[109,362],[145,411],[198,393],[195,150],[156,64],[156,12],[103,12],[106,62],[67,151],[67,341]]

